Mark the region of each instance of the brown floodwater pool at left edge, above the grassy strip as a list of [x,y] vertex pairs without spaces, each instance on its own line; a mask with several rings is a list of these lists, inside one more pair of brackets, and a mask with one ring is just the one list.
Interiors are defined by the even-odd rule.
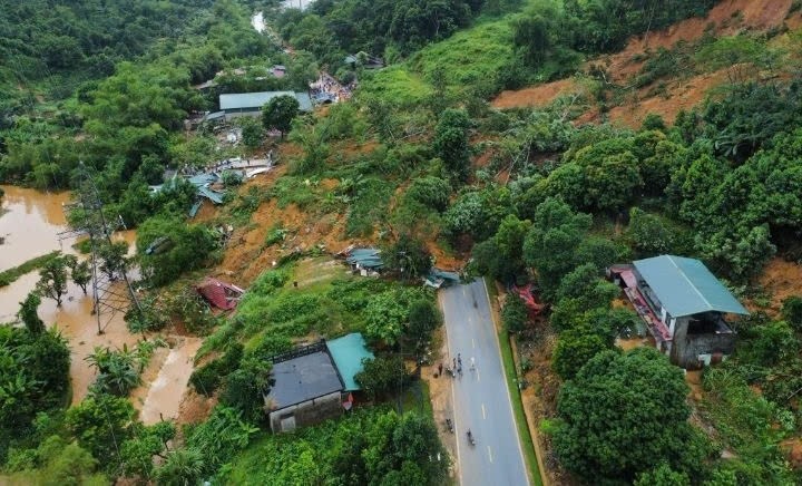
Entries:
[[[36,256],[62,250],[58,233],[67,229],[63,193],[40,193],[16,186],[0,186],[6,195],[0,208],[0,271],[12,269]],[[71,242],[65,242],[63,249]]]

